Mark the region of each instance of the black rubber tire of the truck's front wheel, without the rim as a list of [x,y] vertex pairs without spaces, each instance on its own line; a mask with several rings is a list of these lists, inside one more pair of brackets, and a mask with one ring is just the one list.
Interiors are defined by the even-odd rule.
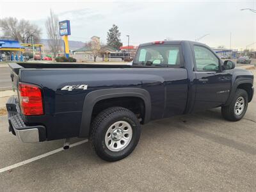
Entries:
[[[237,115],[235,113],[235,106],[236,106],[237,99],[239,97],[243,97],[243,99],[244,99],[244,108],[243,108],[243,112],[241,114]],[[222,114],[223,118],[225,118],[226,120],[236,122],[238,120],[241,120],[241,118],[243,118],[244,114],[246,113],[247,107],[248,107],[247,92],[242,89],[237,89],[230,104],[228,106],[223,106],[221,108],[221,114]]]

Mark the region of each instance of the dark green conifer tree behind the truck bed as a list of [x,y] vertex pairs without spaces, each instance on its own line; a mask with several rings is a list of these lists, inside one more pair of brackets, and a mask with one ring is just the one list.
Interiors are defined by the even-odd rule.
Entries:
[[120,40],[121,33],[118,26],[113,24],[112,28],[108,31],[107,44],[115,49],[119,49],[123,44]]

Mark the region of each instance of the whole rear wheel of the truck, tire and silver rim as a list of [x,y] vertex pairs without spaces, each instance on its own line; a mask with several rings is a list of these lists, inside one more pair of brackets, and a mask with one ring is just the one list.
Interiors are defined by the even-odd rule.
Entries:
[[99,113],[92,123],[90,143],[106,161],[129,156],[140,139],[140,122],[132,111],[113,107]]

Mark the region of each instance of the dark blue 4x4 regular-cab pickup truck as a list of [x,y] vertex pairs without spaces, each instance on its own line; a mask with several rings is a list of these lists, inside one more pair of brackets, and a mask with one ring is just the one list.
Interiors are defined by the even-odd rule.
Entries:
[[252,73],[198,42],[141,44],[131,65],[9,65],[13,134],[24,142],[88,138],[106,161],[131,154],[150,120],[221,107],[237,121],[253,97]]

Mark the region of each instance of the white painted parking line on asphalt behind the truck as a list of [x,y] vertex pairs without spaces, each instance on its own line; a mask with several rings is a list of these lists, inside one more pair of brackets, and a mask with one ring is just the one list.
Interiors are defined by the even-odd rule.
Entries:
[[[81,144],[86,143],[86,142],[88,142],[88,140],[78,141],[77,143],[71,144],[69,147],[70,147],[70,148],[71,148],[71,147],[75,147],[75,146],[77,146],[77,145],[81,145]],[[47,152],[47,153],[45,153],[45,154],[42,154],[42,155],[40,155],[40,156],[32,157],[31,159],[28,159],[28,160],[25,160],[25,161],[21,161],[20,163],[16,163],[16,164],[12,164],[12,165],[10,165],[10,166],[6,166],[6,167],[0,169],[0,173],[6,172],[6,171],[8,171],[8,170],[12,170],[13,168],[17,168],[17,167],[22,166],[22,165],[24,165],[24,164],[31,163],[31,162],[36,161],[36,160],[38,160],[38,159],[42,159],[42,158],[44,158],[44,157],[51,156],[52,154],[56,154],[56,153],[58,153],[58,152],[60,152],[60,151],[62,151],[62,150],[64,150],[63,147],[57,148],[57,149],[55,149],[55,150],[52,150],[52,151]]]

